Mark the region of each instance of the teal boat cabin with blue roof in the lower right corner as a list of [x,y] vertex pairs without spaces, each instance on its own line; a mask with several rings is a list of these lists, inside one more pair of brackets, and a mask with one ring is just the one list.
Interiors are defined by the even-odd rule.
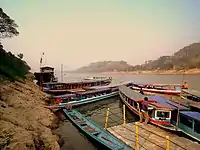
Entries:
[[180,112],[179,129],[200,142],[200,113],[192,111]]

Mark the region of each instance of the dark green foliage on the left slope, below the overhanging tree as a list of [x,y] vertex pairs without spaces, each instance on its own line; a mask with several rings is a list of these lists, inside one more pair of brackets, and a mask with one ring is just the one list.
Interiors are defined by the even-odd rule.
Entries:
[[0,49],[0,75],[9,78],[10,80],[21,81],[26,78],[30,67],[25,61],[13,55],[11,52],[6,52]]

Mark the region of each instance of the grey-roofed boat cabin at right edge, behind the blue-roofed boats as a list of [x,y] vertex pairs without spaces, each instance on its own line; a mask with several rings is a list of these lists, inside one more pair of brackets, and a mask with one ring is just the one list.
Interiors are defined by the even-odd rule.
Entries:
[[181,97],[185,100],[200,102],[200,92],[196,90],[183,89]]

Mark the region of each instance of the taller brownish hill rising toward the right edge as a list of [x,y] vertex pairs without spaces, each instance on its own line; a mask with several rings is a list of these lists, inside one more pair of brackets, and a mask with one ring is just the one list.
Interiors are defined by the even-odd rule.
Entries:
[[200,43],[194,43],[180,49],[172,56],[161,56],[157,60],[146,61],[142,65],[136,65],[132,71],[138,70],[181,70],[200,68]]

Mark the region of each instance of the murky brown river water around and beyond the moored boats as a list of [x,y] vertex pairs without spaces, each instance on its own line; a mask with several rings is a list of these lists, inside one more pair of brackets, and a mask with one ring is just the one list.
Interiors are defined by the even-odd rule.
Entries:
[[[75,81],[80,80],[84,77],[100,76],[98,74],[67,74],[64,75],[64,81]],[[110,75],[113,78],[113,83],[120,83],[123,81],[134,81],[136,83],[162,83],[162,84],[179,84],[182,81],[187,81],[189,88],[200,91],[200,75]],[[58,76],[59,77],[59,76]],[[122,103],[119,97],[107,99],[101,102],[89,104],[78,108],[78,110],[84,115],[88,116],[89,119],[98,123],[102,127],[105,122],[105,112],[107,108],[114,111],[118,116],[111,116],[112,121],[118,121],[122,123],[123,120],[119,120],[118,117],[122,118]],[[131,112],[126,110],[127,121],[135,121],[138,118],[135,117]],[[118,118],[118,119],[117,119]],[[108,125],[115,125],[109,122]],[[65,119],[59,125],[57,129],[61,137],[64,140],[64,145],[61,150],[96,150],[98,146],[88,140],[83,134]]]

